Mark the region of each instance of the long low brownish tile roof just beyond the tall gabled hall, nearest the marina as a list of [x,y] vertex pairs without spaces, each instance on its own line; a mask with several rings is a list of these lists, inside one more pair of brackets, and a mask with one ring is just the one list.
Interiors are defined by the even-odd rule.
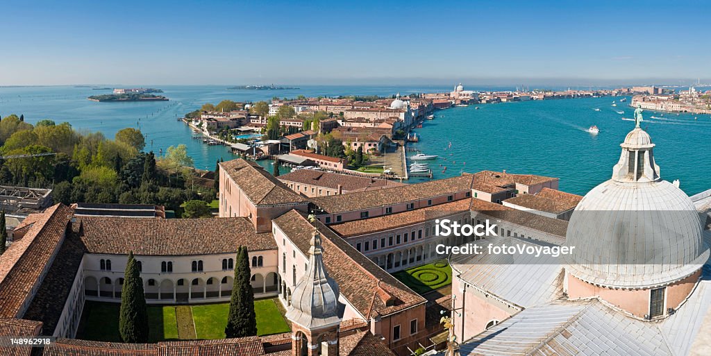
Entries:
[[387,179],[365,178],[359,176],[349,176],[339,173],[328,173],[324,171],[313,171],[311,169],[299,169],[279,176],[279,180],[289,180],[294,183],[319,185],[324,188],[338,189],[341,185],[344,192],[349,192],[364,188],[373,187],[395,187],[404,185]]

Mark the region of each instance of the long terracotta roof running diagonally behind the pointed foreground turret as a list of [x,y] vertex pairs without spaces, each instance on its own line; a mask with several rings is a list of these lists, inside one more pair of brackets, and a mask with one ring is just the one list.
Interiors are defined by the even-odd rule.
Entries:
[[[306,216],[290,210],[274,223],[301,252],[309,254],[313,228]],[[338,283],[341,295],[365,318],[389,315],[426,303],[422,296],[383,271],[326,225],[319,223],[319,231],[324,237],[324,265],[328,275]]]

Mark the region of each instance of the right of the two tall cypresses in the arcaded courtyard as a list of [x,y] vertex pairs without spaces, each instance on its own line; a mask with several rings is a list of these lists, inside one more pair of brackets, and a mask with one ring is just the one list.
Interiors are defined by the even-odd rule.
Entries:
[[250,285],[250,256],[247,247],[241,246],[237,252],[235,282],[232,285],[230,312],[228,313],[225,335],[228,338],[243,338],[257,335],[257,317],[255,316],[255,294]]

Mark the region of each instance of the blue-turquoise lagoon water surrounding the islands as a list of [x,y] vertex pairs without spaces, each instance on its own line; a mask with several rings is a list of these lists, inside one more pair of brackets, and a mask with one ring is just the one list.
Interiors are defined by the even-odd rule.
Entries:
[[[113,136],[124,127],[139,127],[146,134],[146,150],[165,152],[171,145],[186,144],[196,168],[213,169],[219,158],[231,159],[225,146],[208,146],[191,139],[191,130],[178,122],[186,112],[205,102],[222,99],[257,101],[296,95],[392,95],[400,92],[451,90],[442,86],[309,86],[300,90],[227,90],[228,86],[120,85],[159,87],[169,102],[91,102],[87,96],[109,90],[86,87],[0,87],[0,115],[24,114],[26,121],[53,119],[70,122],[76,129],[102,131]],[[102,85],[103,87],[103,85]],[[107,85],[107,87],[113,87]],[[467,88],[469,89],[469,88]],[[513,88],[471,88],[508,90]],[[619,97],[510,102],[455,107],[438,111],[435,119],[416,129],[420,141],[412,145],[427,154],[434,178],[456,176],[482,169],[533,173],[560,178],[560,188],[584,194],[609,179],[619,159],[619,144],[634,127],[632,109]],[[617,107],[611,103],[616,100]],[[600,111],[594,111],[599,108]],[[617,114],[624,111],[624,114]],[[660,119],[651,119],[651,116]],[[711,188],[711,117],[645,112],[642,124],[651,134],[655,158],[665,180],[679,179],[688,194]],[[592,136],[587,128],[597,125]],[[451,148],[448,149],[449,142]],[[446,159],[445,159],[446,158]],[[270,168],[269,162],[262,162]],[[439,167],[442,164],[442,168]],[[442,173],[444,166],[447,171]],[[283,173],[283,171],[282,171]],[[420,181],[422,178],[410,180]]]

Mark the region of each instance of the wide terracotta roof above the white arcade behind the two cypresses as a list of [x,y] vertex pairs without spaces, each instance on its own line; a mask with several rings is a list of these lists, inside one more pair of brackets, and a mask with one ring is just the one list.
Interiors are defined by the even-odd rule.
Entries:
[[80,217],[82,242],[94,254],[177,256],[224,254],[247,246],[250,251],[276,249],[274,237],[257,233],[245,217],[137,219]]

